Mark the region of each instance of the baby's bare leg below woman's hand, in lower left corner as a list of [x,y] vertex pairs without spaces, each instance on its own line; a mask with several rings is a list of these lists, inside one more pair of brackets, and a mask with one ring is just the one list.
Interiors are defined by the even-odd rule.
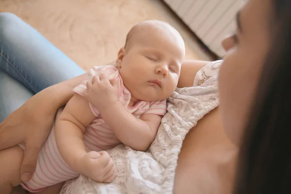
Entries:
[[20,146],[13,146],[0,151],[0,191],[10,194],[13,187],[21,182],[20,165],[24,150]]

